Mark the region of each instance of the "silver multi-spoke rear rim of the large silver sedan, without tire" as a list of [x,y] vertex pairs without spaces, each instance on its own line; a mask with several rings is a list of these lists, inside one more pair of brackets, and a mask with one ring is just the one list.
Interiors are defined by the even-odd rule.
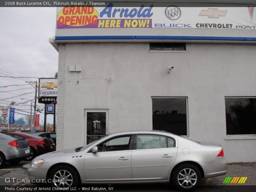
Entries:
[[197,175],[193,169],[182,169],[178,174],[178,183],[183,188],[191,188],[196,184]]

